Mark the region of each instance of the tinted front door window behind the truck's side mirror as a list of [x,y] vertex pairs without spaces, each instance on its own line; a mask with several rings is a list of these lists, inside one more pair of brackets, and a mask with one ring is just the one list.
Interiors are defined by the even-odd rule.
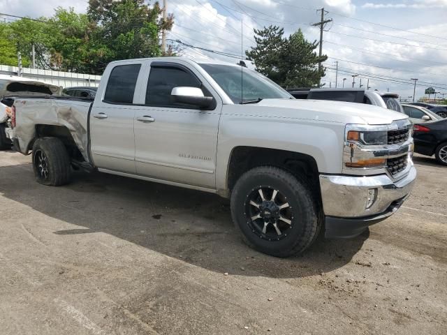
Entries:
[[[202,83],[191,73],[181,68],[154,67],[147,82],[146,104],[157,106],[182,107],[171,101],[170,93],[174,87],[198,87]],[[185,106],[184,106],[185,107]],[[191,106],[189,106],[190,108]]]

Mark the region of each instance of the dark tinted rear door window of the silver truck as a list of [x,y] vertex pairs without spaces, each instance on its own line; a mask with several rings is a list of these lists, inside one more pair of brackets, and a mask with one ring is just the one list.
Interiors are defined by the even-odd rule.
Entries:
[[104,101],[132,103],[141,64],[115,66],[109,76]]

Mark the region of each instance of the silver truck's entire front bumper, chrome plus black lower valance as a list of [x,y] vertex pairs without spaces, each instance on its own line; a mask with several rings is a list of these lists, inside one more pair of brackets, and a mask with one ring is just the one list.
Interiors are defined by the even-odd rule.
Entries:
[[[364,177],[321,174],[325,237],[356,236],[395,213],[411,193],[416,179],[416,168],[409,163],[409,172],[398,181],[390,179],[388,174]],[[372,204],[370,190],[375,190]]]

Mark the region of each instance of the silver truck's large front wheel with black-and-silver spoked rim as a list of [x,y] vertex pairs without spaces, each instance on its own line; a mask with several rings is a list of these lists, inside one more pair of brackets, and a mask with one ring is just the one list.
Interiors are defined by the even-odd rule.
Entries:
[[[278,214],[276,207],[284,208]],[[309,248],[321,228],[320,207],[305,181],[270,166],[242,174],[231,193],[231,216],[245,243],[277,257]]]

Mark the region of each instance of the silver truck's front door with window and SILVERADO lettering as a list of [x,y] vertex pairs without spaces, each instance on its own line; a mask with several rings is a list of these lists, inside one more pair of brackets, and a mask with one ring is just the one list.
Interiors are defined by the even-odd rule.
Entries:
[[152,62],[145,106],[135,112],[137,174],[215,188],[221,102],[214,110],[173,103],[173,87],[199,87],[205,96],[214,96],[200,74],[190,68],[172,62]]

